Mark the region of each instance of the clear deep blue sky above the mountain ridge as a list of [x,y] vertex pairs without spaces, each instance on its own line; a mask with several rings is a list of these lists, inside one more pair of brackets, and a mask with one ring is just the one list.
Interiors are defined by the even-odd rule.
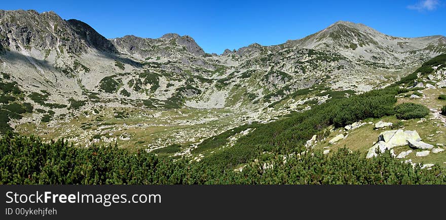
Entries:
[[0,9],[54,11],[106,38],[190,35],[207,53],[276,45],[339,21],[394,36],[446,35],[446,0],[406,1],[4,1]]

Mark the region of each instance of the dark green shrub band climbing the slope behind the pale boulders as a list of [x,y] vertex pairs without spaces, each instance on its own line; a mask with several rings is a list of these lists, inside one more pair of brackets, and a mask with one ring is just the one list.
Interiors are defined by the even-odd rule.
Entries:
[[397,88],[392,87],[316,105],[304,113],[294,113],[282,120],[258,126],[233,146],[202,161],[219,169],[232,169],[258,158],[265,151],[273,154],[303,152],[305,141],[314,134],[323,137],[329,125],[343,127],[366,118],[392,115],[397,92]]

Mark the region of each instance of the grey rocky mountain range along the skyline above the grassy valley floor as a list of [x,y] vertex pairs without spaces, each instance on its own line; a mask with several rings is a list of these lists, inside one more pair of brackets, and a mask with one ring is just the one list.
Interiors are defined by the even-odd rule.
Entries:
[[446,38],[399,38],[339,21],[300,40],[217,55],[186,35],[105,39],[54,12],[1,10],[0,50],[0,71],[11,76],[6,81],[26,94],[47,91],[48,102],[263,108],[314,86],[354,92],[383,87],[446,52]]

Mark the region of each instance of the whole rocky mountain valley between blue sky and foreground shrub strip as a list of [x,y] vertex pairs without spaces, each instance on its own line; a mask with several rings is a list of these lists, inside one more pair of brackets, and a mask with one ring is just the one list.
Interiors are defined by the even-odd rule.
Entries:
[[[444,169],[445,54],[444,36],[401,38],[339,21],[303,39],[218,55],[188,35],[105,39],[54,12],[0,10],[0,135],[144,152],[212,167],[217,177],[292,169],[278,161],[330,160],[345,148],[365,163],[374,146],[395,161]],[[399,129],[417,131],[436,153],[417,156],[426,149],[410,139],[379,145],[382,132]],[[209,175],[191,181],[214,184]],[[231,182],[239,174],[221,175]]]

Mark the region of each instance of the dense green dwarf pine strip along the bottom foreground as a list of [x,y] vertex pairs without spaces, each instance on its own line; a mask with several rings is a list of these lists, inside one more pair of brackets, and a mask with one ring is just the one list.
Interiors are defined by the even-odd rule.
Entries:
[[[177,147],[177,146],[175,146]],[[444,184],[437,166],[401,163],[389,153],[365,159],[341,149],[271,158],[247,165],[242,172],[205,167],[201,162],[160,159],[152,153],[117,146],[75,148],[63,140],[6,134],[0,139],[0,184]],[[24,166],[26,164],[26,166]]]

